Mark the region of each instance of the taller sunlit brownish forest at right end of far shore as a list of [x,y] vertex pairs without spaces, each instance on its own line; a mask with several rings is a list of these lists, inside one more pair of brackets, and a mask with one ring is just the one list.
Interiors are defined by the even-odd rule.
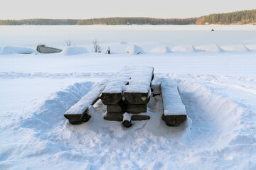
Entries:
[[248,24],[256,23],[256,9],[237,11],[232,13],[215,13],[201,16],[196,24]]

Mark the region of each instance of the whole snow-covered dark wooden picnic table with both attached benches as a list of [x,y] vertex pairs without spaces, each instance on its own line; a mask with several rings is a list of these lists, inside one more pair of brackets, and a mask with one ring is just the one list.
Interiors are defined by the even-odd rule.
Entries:
[[[90,120],[90,107],[98,99],[107,106],[105,120],[121,121],[129,128],[132,120],[149,120],[147,104],[150,96],[161,95],[164,105],[162,119],[166,125],[178,126],[186,120],[186,110],[174,81],[163,79],[151,87],[154,67],[126,67],[114,77],[97,84],[75,103],[64,116],[71,124]],[[151,95],[151,91],[153,94]]]

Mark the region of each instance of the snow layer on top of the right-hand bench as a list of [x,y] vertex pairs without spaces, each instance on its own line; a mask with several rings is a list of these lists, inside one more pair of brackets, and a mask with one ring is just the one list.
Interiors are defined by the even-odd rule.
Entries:
[[186,115],[186,109],[178,94],[177,83],[173,79],[162,79],[161,91],[164,115]]

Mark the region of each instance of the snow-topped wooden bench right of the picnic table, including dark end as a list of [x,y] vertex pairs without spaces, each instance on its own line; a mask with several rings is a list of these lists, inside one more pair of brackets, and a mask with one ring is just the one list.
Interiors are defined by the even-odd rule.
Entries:
[[178,94],[177,83],[172,79],[162,79],[161,94],[163,97],[164,113],[162,119],[168,126],[178,126],[186,121],[186,108]]

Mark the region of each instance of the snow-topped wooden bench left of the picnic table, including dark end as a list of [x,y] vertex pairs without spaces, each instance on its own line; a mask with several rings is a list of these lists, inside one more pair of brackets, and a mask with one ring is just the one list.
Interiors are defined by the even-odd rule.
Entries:
[[78,103],[75,103],[75,105],[64,113],[65,118],[73,125],[90,120],[89,107],[97,102],[105,86],[105,83],[97,84],[91,91],[83,96]]

